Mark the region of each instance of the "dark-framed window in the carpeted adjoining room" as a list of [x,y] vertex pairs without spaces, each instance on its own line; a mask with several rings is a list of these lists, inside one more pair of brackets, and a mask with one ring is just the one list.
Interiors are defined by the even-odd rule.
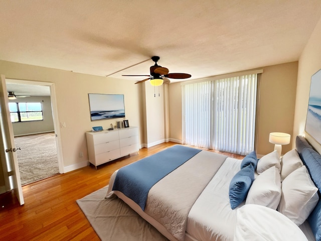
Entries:
[[43,121],[41,103],[9,102],[11,122]]

